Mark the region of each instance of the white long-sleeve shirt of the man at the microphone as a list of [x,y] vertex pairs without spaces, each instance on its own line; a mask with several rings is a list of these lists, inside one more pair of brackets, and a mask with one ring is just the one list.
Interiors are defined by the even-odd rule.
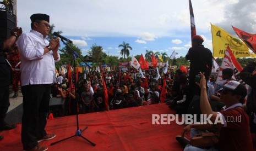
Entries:
[[49,42],[37,31],[21,34],[16,42],[21,54],[21,86],[51,84],[55,79],[55,62],[52,51],[43,55]]

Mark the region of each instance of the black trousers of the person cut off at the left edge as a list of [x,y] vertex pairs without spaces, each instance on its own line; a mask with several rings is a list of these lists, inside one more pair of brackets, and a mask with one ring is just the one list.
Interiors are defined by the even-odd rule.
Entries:
[[9,106],[9,86],[0,87],[0,126],[6,124],[4,118],[6,118]]

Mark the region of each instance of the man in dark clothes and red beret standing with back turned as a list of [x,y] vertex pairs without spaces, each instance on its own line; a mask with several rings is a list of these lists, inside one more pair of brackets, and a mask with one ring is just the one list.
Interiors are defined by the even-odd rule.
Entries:
[[201,36],[193,36],[193,47],[189,48],[186,55],[186,59],[190,61],[189,86],[191,90],[194,90],[195,95],[200,95],[199,86],[195,84],[195,75],[204,72],[205,79],[208,81],[213,67],[213,53],[204,47],[203,42],[204,39]]

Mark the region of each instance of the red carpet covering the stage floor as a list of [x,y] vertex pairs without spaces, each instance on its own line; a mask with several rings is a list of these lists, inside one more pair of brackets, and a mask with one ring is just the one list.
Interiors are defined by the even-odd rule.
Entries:
[[[182,150],[175,140],[180,135],[183,125],[171,122],[170,125],[152,125],[152,114],[175,114],[163,104],[119,109],[79,115],[79,129],[88,125],[82,136],[94,142],[92,146],[82,137],[73,137],[50,144],[72,136],[77,130],[74,116],[48,120],[46,131],[56,133],[56,138],[40,142],[48,146],[48,150]],[[0,135],[0,150],[22,150],[20,140],[21,124],[10,131],[2,131]]]

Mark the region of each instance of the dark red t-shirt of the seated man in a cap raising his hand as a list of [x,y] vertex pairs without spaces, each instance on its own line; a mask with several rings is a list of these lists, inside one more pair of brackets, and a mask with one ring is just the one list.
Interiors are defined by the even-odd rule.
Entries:
[[[221,127],[219,150],[253,150],[252,136],[250,135],[249,118],[241,107],[227,109],[220,112],[227,123]],[[233,122],[232,122],[233,121]]]

